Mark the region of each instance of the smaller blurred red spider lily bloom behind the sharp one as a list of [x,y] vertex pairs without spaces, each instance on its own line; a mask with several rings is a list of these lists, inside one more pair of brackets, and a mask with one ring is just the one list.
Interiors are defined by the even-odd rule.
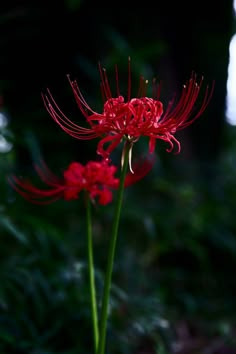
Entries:
[[[134,173],[128,173],[125,187],[142,179],[153,167],[153,157],[140,160],[134,164]],[[117,167],[107,161],[89,161],[85,166],[72,162],[64,171],[63,178],[55,176],[45,163],[35,166],[41,180],[50,188],[42,190],[35,187],[29,180],[16,176],[8,178],[10,185],[25,199],[35,204],[48,204],[60,198],[65,200],[78,199],[81,191],[87,191],[90,199],[97,199],[101,205],[112,201],[112,190],[119,186],[115,177]]]

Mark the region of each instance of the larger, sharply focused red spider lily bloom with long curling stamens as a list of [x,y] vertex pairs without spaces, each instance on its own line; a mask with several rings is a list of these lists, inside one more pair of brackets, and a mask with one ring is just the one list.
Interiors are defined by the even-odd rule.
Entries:
[[[177,130],[186,128],[192,124],[206,109],[212,93],[212,88],[207,86],[203,101],[198,110],[195,103],[199,96],[203,83],[203,77],[198,82],[195,73],[183,86],[179,101],[172,99],[166,109],[159,101],[160,90],[153,80],[153,98],[146,97],[147,81],[140,78],[138,95],[131,98],[131,69],[130,60],[128,67],[128,95],[125,101],[119,91],[118,69],[116,67],[116,97],[112,96],[106,70],[99,66],[101,76],[101,91],[104,98],[102,113],[95,112],[83,97],[77,82],[68,80],[80,111],[85,116],[89,128],[82,127],[71,121],[59,108],[51,92],[43,95],[47,111],[59,126],[69,135],[82,140],[90,140],[100,137],[97,153],[107,158],[120,144],[122,139],[127,139],[131,145],[141,136],[149,137],[149,152],[155,150],[156,140],[161,139],[169,144],[168,152],[177,145],[177,153],[180,152],[180,142],[174,134]],[[105,144],[108,144],[105,147]]]

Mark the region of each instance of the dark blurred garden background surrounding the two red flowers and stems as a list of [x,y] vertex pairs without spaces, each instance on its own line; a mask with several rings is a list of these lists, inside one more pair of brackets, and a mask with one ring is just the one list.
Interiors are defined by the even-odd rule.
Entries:
[[[66,135],[41,99],[47,87],[75,121],[66,75],[101,109],[98,62],[122,92],[131,57],[162,82],[167,102],[195,71],[204,114],[178,133],[182,151],[157,144],[157,163],[126,189],[111,291],[109,354],[236,353],[236,56],[233,1],[8,1],[0,12],[0,353],[91,354],[83,200],[32,205],[10,174],[39,178],[43,158],[62,175],[96,158],[97,141]],[[201,97],[199,97],[199,104]],[[147,141],[134,149],[147,153]],[[134,157],[135,157],[134,156]],[[119,149],[114,153],[119,161]],[[40,186],[40,184],[37,184]],[[93,209],[98,298],[113,205]]]

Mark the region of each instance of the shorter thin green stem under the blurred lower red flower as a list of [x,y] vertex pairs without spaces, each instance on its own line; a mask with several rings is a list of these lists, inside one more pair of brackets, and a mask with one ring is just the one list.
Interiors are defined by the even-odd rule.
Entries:
[[91,202],[88,194],[85,195],[86,200],[86,221],[87,221],[87,246],[88,246],[88,266],[89,266],[89,285],[90,285],[90,301],[91,313],[93,322],[93,336],[95,352],[98,347],[99,331],[98,331],[98,316],[97,316],[97,302],[96,302],[96,287],[94,277],[94,263],[93,263],[93,239],[92,239],[92,223],[91,223]]

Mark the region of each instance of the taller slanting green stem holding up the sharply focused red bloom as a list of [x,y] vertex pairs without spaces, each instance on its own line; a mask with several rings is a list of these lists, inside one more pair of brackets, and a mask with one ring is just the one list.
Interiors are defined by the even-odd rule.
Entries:
[[118,234],[118,227],[120,221],[121,214],[121,206],[123,201],[123,193],[124,193],[124,182],[125,175],[128,167],[129,160],[129,150],[131,145],[127,143],[124,150],[124,160],[123,166],[120,175],[120,184],[117,194],[117,201],[115,206],[115,213],[112,225],[112,233],[110,238],[109,250],[108,250],[108,263],[107,263],[107,271],[104,282],[103,289],[103,298],[102,298],[102,310],[101,310],[101,322],[100,322],[100,337],[98,344],[97,354],[105,353],[105,345],[106,345],[106,331],[107,331],[107,317],[108,317],[108,306],[109,306],[109,297],[110,297],[110,288],[111,288],[111,278],[114,264],[114,256],[115,256],[115,248],[116,248],[116,240]]

